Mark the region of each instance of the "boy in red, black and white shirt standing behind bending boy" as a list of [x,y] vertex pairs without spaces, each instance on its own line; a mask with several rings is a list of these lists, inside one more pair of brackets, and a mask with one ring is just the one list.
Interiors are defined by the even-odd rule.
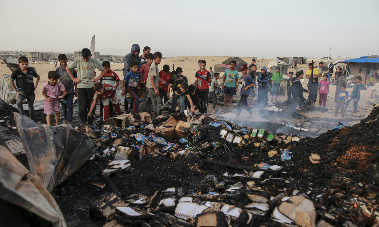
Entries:
[[[110,62],[103,61],[101,65],[104,67],[106,73],[102,78],[100,78],[100,81],[103,84],[109,84],[110,86],[114,87],[114,90],[117,90],[117,87],[120,83],[120,78],[118,77],[118,75],[115,72],[113,72],[111,70]],[[97,121],[103,120],[103,117],[102,117],[103,116],[103,108],[104,108],[103,102],[100,99],[100,117],[99,117],[99,119],[97,119]],[[112,103],[109,104],[109,117],[113,117],[113,104]]]

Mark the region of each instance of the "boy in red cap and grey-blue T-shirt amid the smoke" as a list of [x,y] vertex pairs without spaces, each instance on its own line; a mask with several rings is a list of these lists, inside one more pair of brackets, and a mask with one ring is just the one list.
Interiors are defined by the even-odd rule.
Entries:
[[243,75],[241,76],[241,81],[239,83],[242,84],[241,87],[241,99],[237,106],[237,115],[236,119],[240,118],[242,107],[244,107],[247,112],[250,113],[250,118],[253,117],[253,111],[251,110],[251,107],[247,105],[247,97],[250,95],[250,89],[252,86],[255,85],[254,79],[247,73],[247,65],[243,64],[241,65],[241,72]]

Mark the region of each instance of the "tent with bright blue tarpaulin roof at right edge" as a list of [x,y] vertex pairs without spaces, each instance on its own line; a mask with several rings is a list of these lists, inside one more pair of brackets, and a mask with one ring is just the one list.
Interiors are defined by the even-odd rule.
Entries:
[[[375,75],[375,73],[379,70],[379,56],[377,55],[348,59],[345,61],[339,61],[338,63],[346,64],[343,70],[345,72],[345,68],[347,68],[347,71],[350,72],[352,78],[355,76],[361,76],[364,84],[368,83],[368,79],[371,75]],[[349,75],[346,75],[346,78],[349,78]],[[377,81],[378,78],[376,77],[374,79],[374,84]]]

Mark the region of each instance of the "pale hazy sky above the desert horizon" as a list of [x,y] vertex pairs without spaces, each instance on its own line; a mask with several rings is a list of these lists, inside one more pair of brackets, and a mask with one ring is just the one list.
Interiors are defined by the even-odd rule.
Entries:
[[0,50],[163,56],[378,54],[378,0],[0,0]]

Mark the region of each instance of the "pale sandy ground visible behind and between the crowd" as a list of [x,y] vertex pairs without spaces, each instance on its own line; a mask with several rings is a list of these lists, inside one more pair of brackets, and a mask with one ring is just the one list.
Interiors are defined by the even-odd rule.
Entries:
[[[169,65],[171,70],[172,70],[173,64],[174,64],[175,68],[181,67],[183,69],[183,75],[187,76],[187,78],[189,79],[189,82],[193,83],[195,80],[195,73],[198,70],[197,61],[199,59],[203,59],[203,60],[207,61],[207,67],[206,68],[209,69],[209,67],[214,68],[215,64],[221,64],[221,62],[226,60],[227,58],[229,58],[229,57],[227,57],[227,56],[180,56],[180,57],[175,57],[175,58],[162,59],[162,62],[159,65],[159,67],[160,67],[160,69],[163,68],[164,64]],[[250,57],[241,57],[241,58],[244,61],[246,61],[248,64],[251,63]],[[257,72],[260,72],[260,69],[263,66],[266,66],[267,63],[270,61],[272,61],[272,59],[265,59],[265,60],[257,59],[257,62],[256,62],[257,67],[258,67]],[[48,80],[47,79],[47,73],[50,70],[55,70],[55,66],[53,64],[48,64],[48,63],[37,63],[37,64],[31,63],[30,65],[32,67],[36,68],[38,74],[41,76],[41,80],[40,80],[40,82],[38,84],[38,88],[36,90],[36,101],[42,100],[43,99],[43,96],[41,94],[42,84]],[[113,71],[115,71],[119,75],[119,77],[122,77],[122,71],[118,71],[118,70],[121,70],[123,67],[124,67],[124,64],[122,64],[122,63],[111,64],[111,69]],[[300,70],[301,68],[304,68],[304,71],[305,71],[307,69],[307,65],[298,65],[298,69]],[[96,70],[96,71],[97,71],[97,73],[100,73],[98,70]],[[295,72],[295,69],[290,68],[288,71]],[[2,76],[4,73],[10,75],[11,70],[9,70],[9,68],[7,68],[5,64],[0,64],[0,75]],[[305,79],[305,81],[307,81],[307,80],[308,79]],[[220,81],[222,81],[222,79],[220,79]],[[303,87],[306,88],[307,84],[303,84]],[[329,109],[329,111],[323,112],[323,113],[314,112],[314,111],[312,111],[312,112],[305,112],[304,111],[304,112],[301,112],[301,114],[305,115],[306,117],[327,118],[327,119],[331,119],[333,121],[336,121],[337,123],[338,123],[338,121],[342,121],[342,122],[346,122],[348,124],[355,124],[355,123],[358,123],[361,119],[365,118],[371,112],[372,105],[367,104],[366,101],[374,102],[374,100],[370,99],[372,89],[367,88],[367,90],[364,90],[361,92],[361,100],[359,101],[359,104],[358,104],[358,106],[359,106],[358,111],[359,112],[357,112],[357,113],[352,112],[353,103],[351,102],[349,104],[349,107],[348,107],[348,110],[351,110],[351,112],[347,112],[345,114],[344,120],[340,119],[341,118],[340,113],[339,113],[337,118],[334,118],[335,86],[329,86],[329,89],[330,89],[329,94],[333,96],[333,97],[327,98],[328,100],[326,103],[326,108]],[[351,93],[352,88],[348,88],[347,91],[349,93]],[[307,98],[308,95],[304,94],[304,97]],[[283,102],[286,99],[287,99],[287,95],[282,95],[282,96],[278,96],[277,101]],[[254,105],[255,103],[256,103],[256,98],[254,98],[252,104]],[[221,103],[219,103],[219,104],[221,104]],[[318,106],[318,103],[316,104],[316,107],[317,106]],[[218,106],[217,109],[221,110],[222,106]],[[212,109],[211,107],[208,108],[209,113],[214,113],[215,110],[216,109]],[[258,111],[257,108],[255,108],[253,110],[255,112]],[[232,111],[229,114],[229,116],[232,116],[235,111],[236,111],[236,105],[233,105]],[[248,113],[246,110],[243,110],[241,113],[241,118],[244,118],[246,116],[248,116]]]

